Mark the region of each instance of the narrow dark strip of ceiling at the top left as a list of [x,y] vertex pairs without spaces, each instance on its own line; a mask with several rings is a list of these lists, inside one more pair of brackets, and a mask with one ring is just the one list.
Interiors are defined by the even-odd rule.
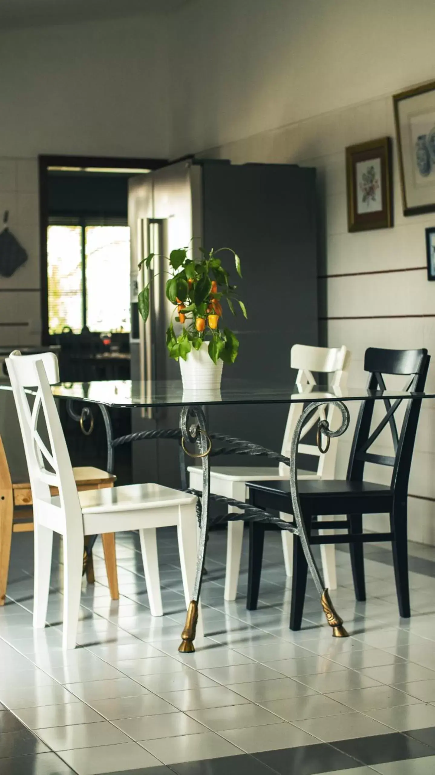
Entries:
[[170,13],[187,0],[0,0],[0,31],[87,19]]

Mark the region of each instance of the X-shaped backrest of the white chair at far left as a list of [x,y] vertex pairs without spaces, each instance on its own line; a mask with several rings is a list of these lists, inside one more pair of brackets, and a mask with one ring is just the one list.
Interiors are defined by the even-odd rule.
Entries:
[[[6,359],[6,365],[29,469],[35,522],[38,522],[39,508],[43,507],[43,503],[51,503],[50,486],[58,487],[60,518],[63,516],[65,528],[75,526],[83,532],[80,501],[70,455],[50,388],[50,384],[59,381],[57,357],[54,353],[22,356],[15,350]],[[36,387],[32,409],[29,406],[28,391],[26,391],[28,387]],[[41,408],[50,449],[43,442],[38,431]]]

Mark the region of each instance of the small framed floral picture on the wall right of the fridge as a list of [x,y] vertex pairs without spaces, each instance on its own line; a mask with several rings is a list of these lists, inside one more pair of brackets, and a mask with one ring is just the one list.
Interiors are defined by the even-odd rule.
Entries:
[[346,148],[348,231],[392,226],[391,140],[382,137]]

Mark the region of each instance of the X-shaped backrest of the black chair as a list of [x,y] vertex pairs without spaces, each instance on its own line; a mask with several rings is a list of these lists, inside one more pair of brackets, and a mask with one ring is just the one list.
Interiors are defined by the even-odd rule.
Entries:
[[[396,374],[407,377],[402,390],[421,393],[424,391],[430,356],[427,350],[382,350],[369,347],[365,351],[364,368],[368,371],[368,390],[384,391],[383,374]],[[403,417],[400,432],[397,430],[394,418],[396,410],[404,399],[398,398],[391,402],[384,398],[385,415],[381,422],[371,432],[375,401],[368,398],[362,401],[358,413],[354,438],[351,446],[351,456],[348,464],[348,480],[361,481],[364,476],[365,463],[377,463],[392,467],[391,487],[402,497],[408,491],[409,471],[413,460],[413,449],[416,440],[416,429],[420,415],[421,398],[405,399],[406,412]],[[377,402],[378,403],[378,402]],[[394,455],[380,455],[369,452],[378,436],[389,425],[392,434]]]

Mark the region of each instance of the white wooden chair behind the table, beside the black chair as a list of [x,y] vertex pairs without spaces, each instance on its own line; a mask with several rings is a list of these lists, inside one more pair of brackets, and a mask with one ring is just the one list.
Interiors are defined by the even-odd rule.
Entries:
[[[345,346],[342,347],[312,347],[295,344],[290,354],[290,366],[297,369],[296,384],[301,388],[307,385],[315,385],[313,372],[332,375],[326,379],[327,383],[334,387],[344,387],[348,377],[348,366],[351,353]],[[317,394],[318,398],[320,395]],[[313,396],[313,398],[315,398]],[[288,456],[290,443],[296,422],[303,411],[302,403],[293,403],[289,408],[286,431],[284,433],[282,454]],[[337,410],[330,406],[327,412],[320,408],[310,421],[305,425],[301,439],[317,420],[327,418],[334,428],[334,415]],[[331,445],[326,455],[321,455],[315,444],[300,444],[299,452],[304,455],[314,455],[318,458],[316,471],[298,470],[299,479],[334,479],[335,460],[337,457],[337,439],[331,439]],[[190,466],[190,487],[194,490],[202,488],[202,474],[199,467]],[[224,495],[227,498],[235,498],[237,501],[245,501],[248,498],[247,481],[255,480],[279,480],[288,479],[289,467],[285,463],[279,463],[277,467],[259,466],[222,466],[211,468],[210,491],[216,495]],[[229,512],[237,512],[238,509],[229,507]],[[281,518],[288,519],[288,515],[281,514]],[[321,519],[321,517],[319,517]],[[225,574],[225,600],[235,600],[237,594],[238,574],[240,570],[241,544],[243,540],[243,522],[228,522],[227,540],[227,567]],[[292,575],[293,567],[293,536],[291,533],[281,531],[283,539],[284,563],[287,576]],[[322,564],[325,577],[325,585],[329,589],[337,589],[337,573],[335,568],[334,544],[321,545]]]

